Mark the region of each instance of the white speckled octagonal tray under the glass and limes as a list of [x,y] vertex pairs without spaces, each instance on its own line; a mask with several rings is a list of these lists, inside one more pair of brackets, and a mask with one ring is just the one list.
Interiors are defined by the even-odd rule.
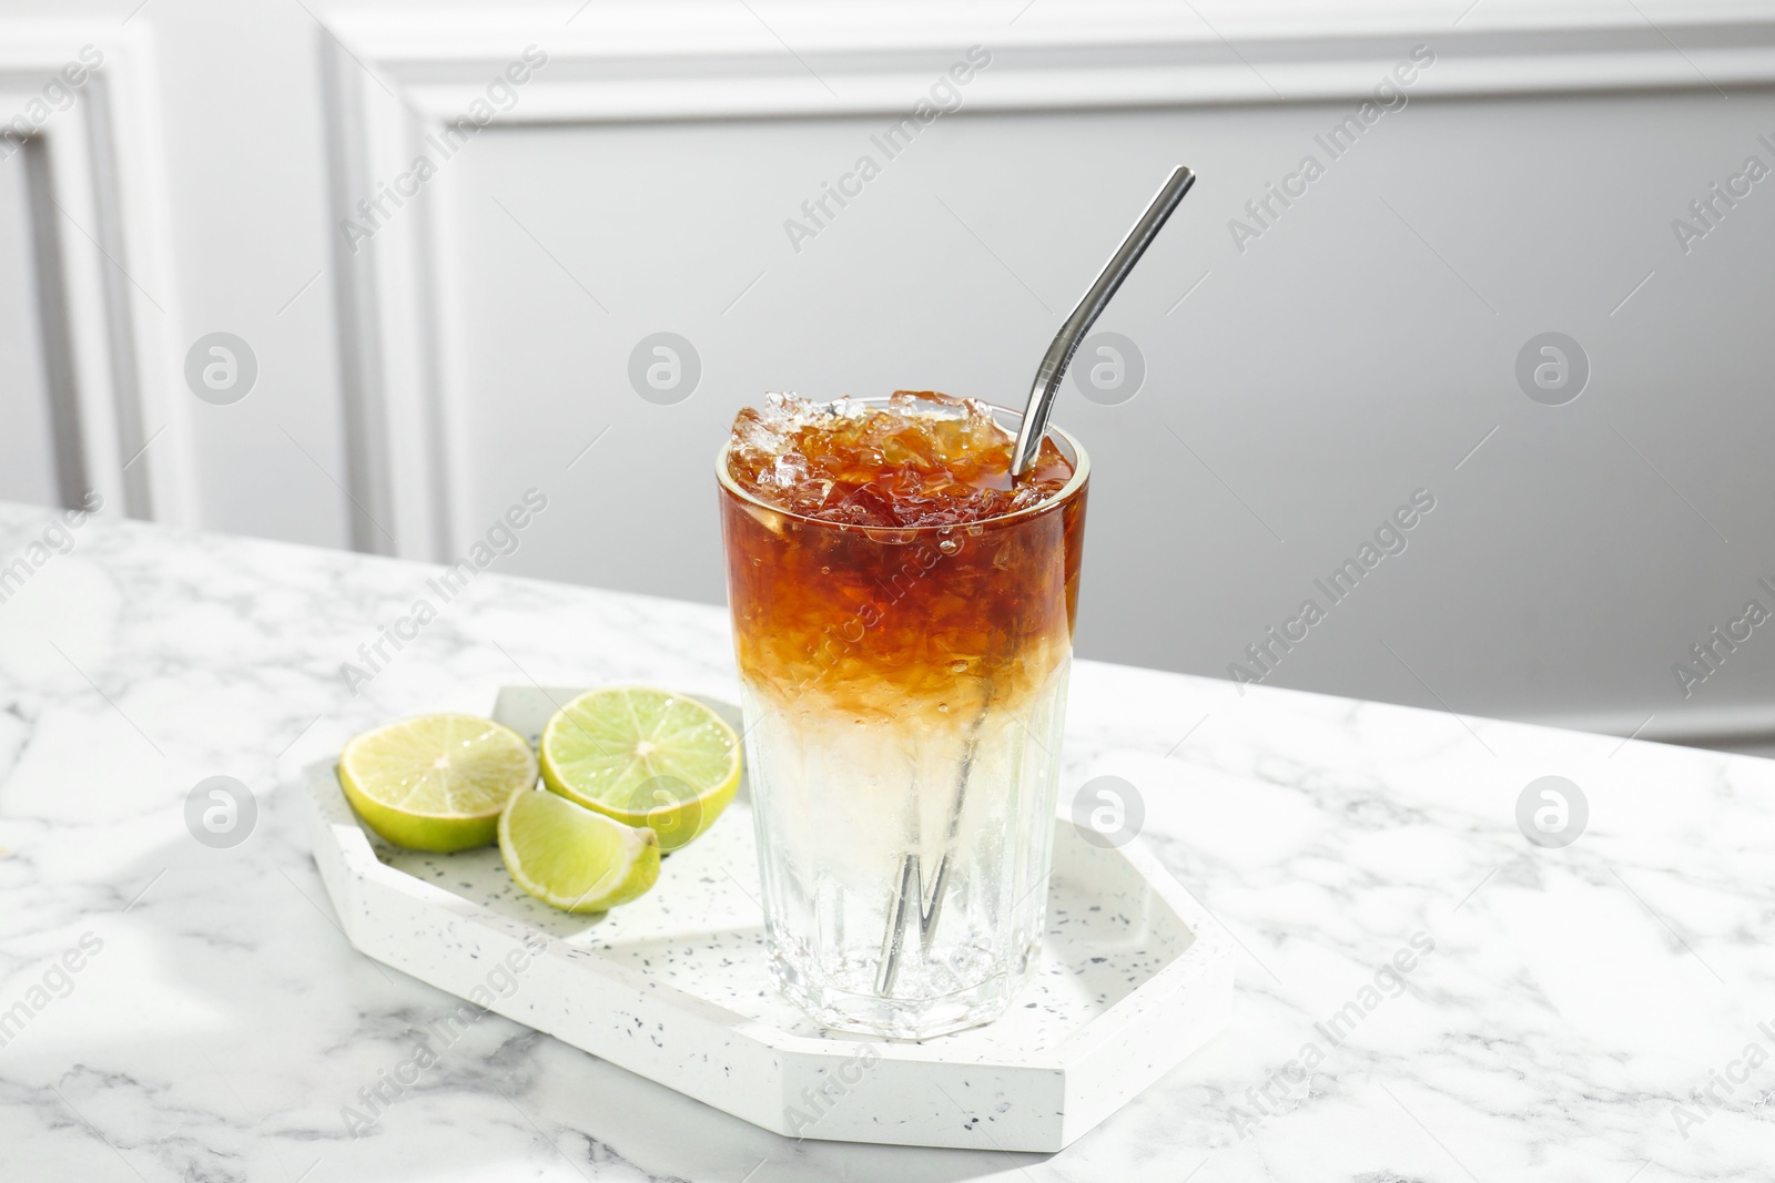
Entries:
[[[506,688],[493,717],[534,740],[573,693]],[[772,990],[744,784],[648,896],[593,917],[525,896],[497,848],[385,844],[330,761],[309,768],[307,802],[314,860],[360,951],[790,1137],[1058,1151],[1232,1007],[1227,933],[1138,842],[1102,850],[1065,819],[1037,979],[996,1023],[903,1043],[829,1032]]]

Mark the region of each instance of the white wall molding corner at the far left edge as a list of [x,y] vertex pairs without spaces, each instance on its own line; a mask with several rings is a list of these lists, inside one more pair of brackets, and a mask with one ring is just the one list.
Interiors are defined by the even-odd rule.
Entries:
[[165,268],[153,46],[140,28],[0,21],[0,122],[25,114],[82,46],[103,62],[0,167],[28,170],[44,362],[62,498],[96,488],[133,518],[192,521],[188,424],[169,397],[176,351]]

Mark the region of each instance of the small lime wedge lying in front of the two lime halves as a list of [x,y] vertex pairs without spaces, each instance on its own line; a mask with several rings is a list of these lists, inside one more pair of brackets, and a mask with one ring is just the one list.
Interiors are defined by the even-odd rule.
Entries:
[[609,912],[660,878],[660,841],[554,793],[515,793],[499,853],[518,887],[564,912]]

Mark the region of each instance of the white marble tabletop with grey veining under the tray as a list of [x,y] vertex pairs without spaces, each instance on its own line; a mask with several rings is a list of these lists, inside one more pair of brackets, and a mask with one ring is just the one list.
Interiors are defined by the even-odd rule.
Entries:
[[[0,505],[0,564],[48,520]],[[1065,1153],[793,1142],[497,1016],[353,1137],[449,1000],[341,936],[298,770],[504,683],[731,697],[724,614],[490,569],[351,695],[433,569],[73,539],[0,584],[5,1183],[1775,1178],[1775,763],[1090,662],[1063,793],[1136,784],[1242,952],[1232,1027]],[[231,850],[186,828],[211,775],[257,798]],[[1589,800],[1564,850],[1514,819],[1542,775]]]

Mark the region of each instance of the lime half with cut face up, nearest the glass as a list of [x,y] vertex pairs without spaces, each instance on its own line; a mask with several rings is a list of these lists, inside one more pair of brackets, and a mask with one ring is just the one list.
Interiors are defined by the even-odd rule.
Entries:
[[660,850],[690,842],[740,786],[740,738],[696,699],[651,686],[589,690],[543,727],[543,784]]

